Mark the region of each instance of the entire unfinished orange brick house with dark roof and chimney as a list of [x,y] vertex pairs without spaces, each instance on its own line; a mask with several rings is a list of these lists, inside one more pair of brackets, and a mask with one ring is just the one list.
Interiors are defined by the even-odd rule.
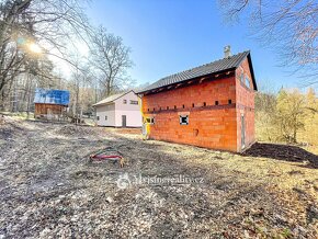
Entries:
[[254,143],[257,82],[250,52],[166,77],[143,91],[150,139],[242,151]]

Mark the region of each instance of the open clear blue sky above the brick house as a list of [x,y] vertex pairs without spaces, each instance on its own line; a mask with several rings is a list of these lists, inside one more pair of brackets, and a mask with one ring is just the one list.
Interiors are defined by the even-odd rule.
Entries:
[[251,37],[247,21],[225,23],[217,1],[94,0],[88,15],[132,48],[129,75],[138,84],[223,58],[230,45],[232,54],[251,50],[259,88],[302,87],[279,67],[274,49]]

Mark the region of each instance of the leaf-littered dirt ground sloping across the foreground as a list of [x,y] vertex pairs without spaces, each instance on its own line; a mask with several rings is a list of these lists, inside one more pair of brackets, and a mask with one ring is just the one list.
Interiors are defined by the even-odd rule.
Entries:
[[[237,155],[134,130],[5,122],[0,238],[317,238],[315,155],[260,149],[274,146]],[[106,147],[124,168],[89,161]]]

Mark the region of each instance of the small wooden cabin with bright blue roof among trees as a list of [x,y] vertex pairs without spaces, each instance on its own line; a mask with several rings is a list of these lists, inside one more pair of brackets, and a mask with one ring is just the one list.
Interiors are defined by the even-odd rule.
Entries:
[[69,105],[69,91],[66,90],[35,90],[34,96],[34,117],[49,121],[66,120]]

